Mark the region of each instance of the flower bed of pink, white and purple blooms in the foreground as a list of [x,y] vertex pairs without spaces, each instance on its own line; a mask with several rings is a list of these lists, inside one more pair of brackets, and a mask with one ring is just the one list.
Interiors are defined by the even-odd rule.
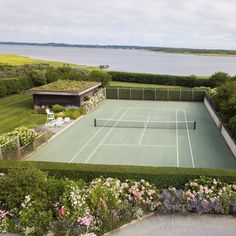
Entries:
[[0,232],[102,235],[154,211],[236,214],[236,184],[207,177],[184,189],[102,177],[85,183],[33,167],[0,177]]

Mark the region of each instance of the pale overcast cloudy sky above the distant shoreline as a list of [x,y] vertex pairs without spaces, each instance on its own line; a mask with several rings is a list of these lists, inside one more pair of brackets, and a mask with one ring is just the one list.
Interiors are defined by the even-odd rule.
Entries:
[[236,0],[0,0],[0,41],[236,49]]

